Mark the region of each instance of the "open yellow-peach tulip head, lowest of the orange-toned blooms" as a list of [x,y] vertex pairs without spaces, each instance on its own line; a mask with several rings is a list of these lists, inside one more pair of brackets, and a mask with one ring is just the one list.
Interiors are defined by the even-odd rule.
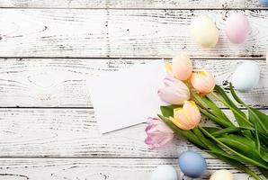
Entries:
[[183,108],[174,109],[173,123],[182,130],[192,130],[201,121],[201,113],[192,101],[185,101]]

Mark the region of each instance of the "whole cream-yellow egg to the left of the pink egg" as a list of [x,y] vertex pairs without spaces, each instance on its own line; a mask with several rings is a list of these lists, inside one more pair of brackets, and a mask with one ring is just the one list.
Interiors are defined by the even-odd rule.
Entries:
[[208,16],[200,16],[192,20],[192,39],[203,48],[214,47],[219,40],[219,30]]

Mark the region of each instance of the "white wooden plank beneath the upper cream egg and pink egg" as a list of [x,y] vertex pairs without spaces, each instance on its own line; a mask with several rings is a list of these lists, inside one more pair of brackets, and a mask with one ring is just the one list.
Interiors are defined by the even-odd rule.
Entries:
[[[178,1],[179,2],[179,1]],[[195,58],[262,58],[268,11],[245,14],[252,31],[243,45],[224,34],[230,11],[124,9],[1,9],[0,57],[147,58],[188,50]],[[193,17],[208,14],[219,27],[219,44],[201,49],[190,37]]]

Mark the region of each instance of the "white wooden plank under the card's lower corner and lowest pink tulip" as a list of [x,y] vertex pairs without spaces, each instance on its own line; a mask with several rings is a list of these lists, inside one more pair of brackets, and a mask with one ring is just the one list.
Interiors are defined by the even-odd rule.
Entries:
[[146,124],[139,124],[102,135],[92,109],[1,108],[0,157],[168,158],[189,149],[200,151],[179,138],[150,150],[144,143],[145,128]]

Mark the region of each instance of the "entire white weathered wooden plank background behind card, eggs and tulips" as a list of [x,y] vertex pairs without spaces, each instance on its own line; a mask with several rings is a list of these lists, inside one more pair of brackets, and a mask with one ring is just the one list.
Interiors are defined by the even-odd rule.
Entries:
[[[148,180],[158,165],[178,169],[180,152],[199,149],[174,139],[148,150],[145,124],[101,135],[85,81],[182,50],[219,85],[227,84],[238,63],[257,62],[261,81],[241,96],[268,112],[268,7],[257,0],[0,0],[0,7],[1,180]],[[239,46],[222,31],[233,11],[244,12],[252,25]],[[220,29],[214,49],[200,49],[189,37],[192,17],[201,14]],[[220,168],[248,178],[203,155],[208,173],[202,179]]]

